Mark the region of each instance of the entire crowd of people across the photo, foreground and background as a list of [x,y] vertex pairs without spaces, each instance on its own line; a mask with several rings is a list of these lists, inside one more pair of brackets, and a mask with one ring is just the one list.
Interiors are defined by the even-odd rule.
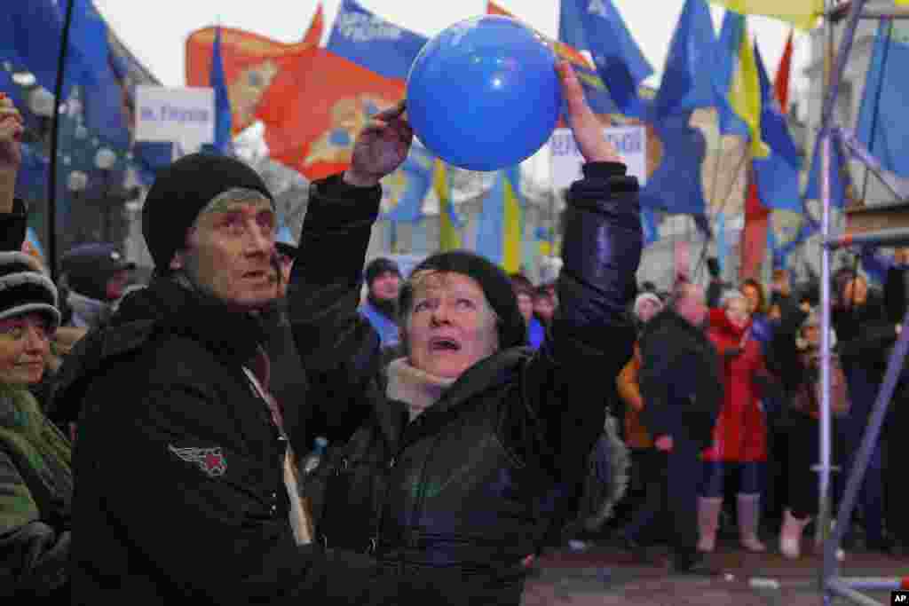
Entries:
[[[275,243],[248,165],[189,154],[145,199],[149,282],[88,243],[53,283],[24,252],[22,121],[0,98],[0,596],[518,604],[572,533],[612,529],[642,557],[668,542],[673,571],[712,573],[724,520],[764,551],[768,510],[798,557],[818,502],[817,297],[778,273],[768,301],[715,263],[706,289],[639,287],[637,181],[558,69],[584,176],[563,270],[539,285],[466,251],[406,275],[365,263],[379,180],[413,138],[403,103],[314,184],[297,243]],[[834,276],[844,466],[906,303],[904,255],[864,256],[882,292]],[[867,549],[909,545],[887,464],[907,393],[863,486]]]

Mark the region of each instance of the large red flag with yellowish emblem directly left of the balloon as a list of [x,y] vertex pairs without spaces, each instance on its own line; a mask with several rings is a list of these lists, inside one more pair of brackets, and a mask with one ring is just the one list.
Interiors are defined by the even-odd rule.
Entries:
[[404,96],[405,83],[324,48],[310,52],[307,68],[273,84],[256,116],[270,156],[315,180],[347,168],[356,135]]

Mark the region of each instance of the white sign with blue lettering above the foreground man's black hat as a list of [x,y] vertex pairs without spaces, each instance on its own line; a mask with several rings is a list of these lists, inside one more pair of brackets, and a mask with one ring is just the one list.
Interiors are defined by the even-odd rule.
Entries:
[[135,87],[135,140],[196,149],[215,141],[215,89]]

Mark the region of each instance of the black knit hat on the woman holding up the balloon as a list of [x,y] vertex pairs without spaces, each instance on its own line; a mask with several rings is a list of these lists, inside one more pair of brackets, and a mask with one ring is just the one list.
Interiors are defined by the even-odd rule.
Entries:
[[[527,328],[524,316],[517,306],[511,280],[502,268],[486,258],[467,251],[436,253],[418,264],[411,275],[424,270],[436,272],[454,272],[473,278],[483,289],[486,301],[499,317],[499,348],[508,349],[524,345],[527,341]],[[400,308],[410,309],[413,303],[414,290],[411,283],[405,283],[401,289]]]

